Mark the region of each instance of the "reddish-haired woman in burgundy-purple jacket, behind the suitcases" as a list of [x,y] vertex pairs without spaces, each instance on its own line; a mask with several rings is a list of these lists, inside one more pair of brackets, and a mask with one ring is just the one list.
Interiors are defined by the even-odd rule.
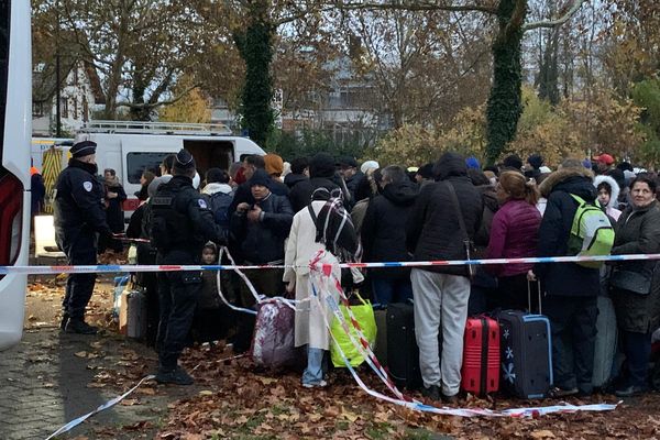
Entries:
[[[539,194],[534,182],[518,172],[499,176],[497,198],[499,210],[493,217],[488,258],[519,258],[536,255],[541,215],[536,208]],[[488,266],[497,276],[498,297],[493,305],[504,309],[525,310],[527,302],[527,271],[532,264],[498,264]],[[536,297],[536,295],[532,295]]]

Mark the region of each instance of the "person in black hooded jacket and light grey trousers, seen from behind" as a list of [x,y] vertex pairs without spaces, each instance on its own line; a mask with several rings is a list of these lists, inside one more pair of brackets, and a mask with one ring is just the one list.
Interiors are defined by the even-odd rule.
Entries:
[[[457,153],[444,153],[433,172],[439,182],[425,186],[419,193],[408,218],[406,246],[415,261],[465,260],[466,242],[473,240],[481,223],[481,195],[468,178],[464,158]],[[469,268],[426,266],[414,268],[410,278],[422,393],[431,399],[454,402],[461,384],[470,299]],[[442,359],[438,346],[440,327]]]

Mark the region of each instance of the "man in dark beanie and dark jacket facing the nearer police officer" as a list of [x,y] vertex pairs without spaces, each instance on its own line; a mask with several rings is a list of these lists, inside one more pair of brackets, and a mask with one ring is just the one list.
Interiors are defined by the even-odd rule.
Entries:
[[[241,202],[230,220],[231,237],[243,263],[248,265],[279,265],[284,263],[284,242],[289,234],[294,211],[286,196],[271,191],[272,179],[264,169],[254,172],[248,184],[253,204]],[[284,292],[283,270],[245,271],[260,294],[280,295]],[[252,308],[254,297],[245,283],[240,286],[241,307]],[[250,348],[254,320],[240,319],[233,340],[235,353]]]

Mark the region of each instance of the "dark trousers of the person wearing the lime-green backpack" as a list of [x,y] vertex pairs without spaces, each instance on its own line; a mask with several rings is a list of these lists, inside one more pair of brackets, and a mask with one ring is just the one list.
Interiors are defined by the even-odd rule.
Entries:
[[596,343],[595,296],[549,295],[543,299],[543,314],[552,331],[552,370],[560,388],[593,391],[594,346]]

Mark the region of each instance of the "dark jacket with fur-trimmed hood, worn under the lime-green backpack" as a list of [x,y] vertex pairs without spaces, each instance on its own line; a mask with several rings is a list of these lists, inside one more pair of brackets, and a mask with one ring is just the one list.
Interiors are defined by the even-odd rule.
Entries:
[[[595,202],[593,174],[586,168],[564,168],[552,173],[540,185],[548,205],[539,228],[538,256],[569,255],[569,238],[578,202],[571,194]],[[596,296],[600,289],[597,268],[575,263],[537,264],[535,273],[544,283],[548,295]]]

